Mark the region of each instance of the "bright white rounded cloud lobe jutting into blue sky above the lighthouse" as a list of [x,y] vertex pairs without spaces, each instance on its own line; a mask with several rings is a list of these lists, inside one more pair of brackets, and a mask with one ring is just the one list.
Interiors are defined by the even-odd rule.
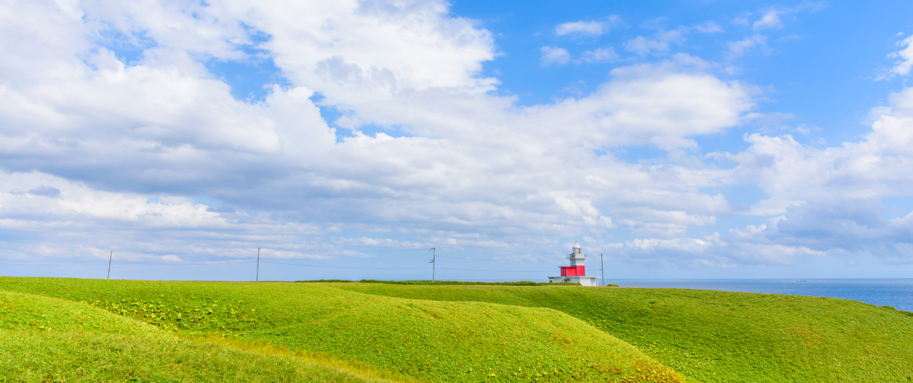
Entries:
[[[739,124],[753,108],[756,90],[689,67],[692,59],[679,55],[661,65],[614,69],[613,80],[588,97],[528,108],[525,114],[531,118],[523,123],[533,124],[528,130],[541,125],[537,133],[548,133],[548,124],[565,126],[565,137],[593,146],[713,133]],[[693,65],[704,64],[698,60]]]

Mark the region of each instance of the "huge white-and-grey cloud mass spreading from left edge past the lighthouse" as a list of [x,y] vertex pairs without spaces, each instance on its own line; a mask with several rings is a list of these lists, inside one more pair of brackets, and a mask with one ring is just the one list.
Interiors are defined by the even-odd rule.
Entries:
[[[518,108],[509,97],[488,94],[493,82],[477,76],[480,63],[493,57],[489,34],[448,18],[446,7],[438,5],[331,5],[324,24],[286,19],[299,12],[295,9],[208,5],[215,8],[205,12],[220,16],[201,17],[200,30],[213,32],[188,37],[203,43],[170,46],[171,35],[155,32],[163,34],[162,42],[130,62],[93,36],[123,26],[119,38],[152,38],[158,35],[135,31],[154,20],[128,12],[131,16],[117,23],[93,24],[90,20],[113,16],[84,9],[88,16],[66,18],[45,5],[66,22],[6,41],[7,51],[28,52],[34,62],[52,61],[58,68],[42,71],[27,60],[5,61],[18,70],[5,72],[0,89],[5,171],[13,176],[37,171],[83,185],[87,196],[100,193],[96,199],[131,201],[109,204],[108,210],[85,207],[74,222],[209,228],[205,231],[213,236],[220,230],[297,228],[294,238],[309,238],[340,226],[393,226],[415,236],[413,242],[504,248],[538,243],[530,236],[542,233],[601,232],[619,222],[635,232],[680,233],[687,225],[711,222],[708,217],[726,208],[719,197],[691,186],[705,182],[706,175],[642,168],[593,151],[650,144],[657,134],[674,138],[725,130],[753,107],[750,87],[718,80],[699,59],[680,56],[615,69],[613,80],[581,98]],[[257,28],[249,33],[272,36],[256,48],[270,52],[288,76],[289,84],[269,86],[262,101],[236,100],[200,61],[247,59],[245,47],[254,44],[253,37],[233,37],[231,26],[239,24],[229,21],[232,16]],[[216,22],[223,27],[206,27]],[[85,32],[92,28],[96,32]],[[66,40],[73,36],[79,38]],[[558,52],[556,62],[570,59],[552,50]],[[584,57],[609,60],[612,53],[604,48]],[[352,135],[323,121],[323,105],[346,112]],[[400,136],[364,134],[358,131],[364,124],[397,126]],[[568,157],[571,152],[582,155]],[[56,187],[60,195],[26,192],[41,185]],[[63,211],[53,204],[80,206],[68,197],[73,187],[43,182],[20,187],[16,196],[47,204],[36,211],[49,211],[41,219],[50,219]],[[150,193],[205,196],[218,203],[148,202]],[[699,203],[669,206],[670,195]],[[121,213],[106,217],[102,211]],[[257,224],[243,224],[249,220]],[[434,230],[422,231],[426,228]],[[484,235],[469,240],[461,237],[466,233]]]

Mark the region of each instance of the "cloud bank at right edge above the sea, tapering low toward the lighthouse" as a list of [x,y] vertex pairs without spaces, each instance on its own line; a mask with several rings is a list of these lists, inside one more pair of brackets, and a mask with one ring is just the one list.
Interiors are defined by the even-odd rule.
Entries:
[[[689,267],[782,264],[827,256],[874,256],[891,264],[913,263],[913,212],[886,215],[881,200],[910,197],[913,183],[913,90],[888,97],[871,112],[865,140],[816,149],[792,136],[748,134],[750,147],[727,154],[737,166],[727,182],[758,185],[767,195],[743,214],[768,218],[761,225],[690,238],[657,230],[620,244],[631,262]],[[668,214],[669,212],[666,212]],[[641,214],[640,217],[646,217]],[[700,216],[679,219],[696,219]],[[634,226],[634,222],[618,220]],[[664,224],[671,219],[662,220]],[[639,224],[648,224],[641,219]],[[689,222],[682,228],[698,222]],[[662,224],[656,229],[662,229]]]

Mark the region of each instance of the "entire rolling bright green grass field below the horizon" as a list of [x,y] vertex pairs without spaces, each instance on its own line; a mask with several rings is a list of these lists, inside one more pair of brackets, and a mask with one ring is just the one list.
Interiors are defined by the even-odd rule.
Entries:
[[891,308],[513,284],[0,278],[0,381],[913,381]]

